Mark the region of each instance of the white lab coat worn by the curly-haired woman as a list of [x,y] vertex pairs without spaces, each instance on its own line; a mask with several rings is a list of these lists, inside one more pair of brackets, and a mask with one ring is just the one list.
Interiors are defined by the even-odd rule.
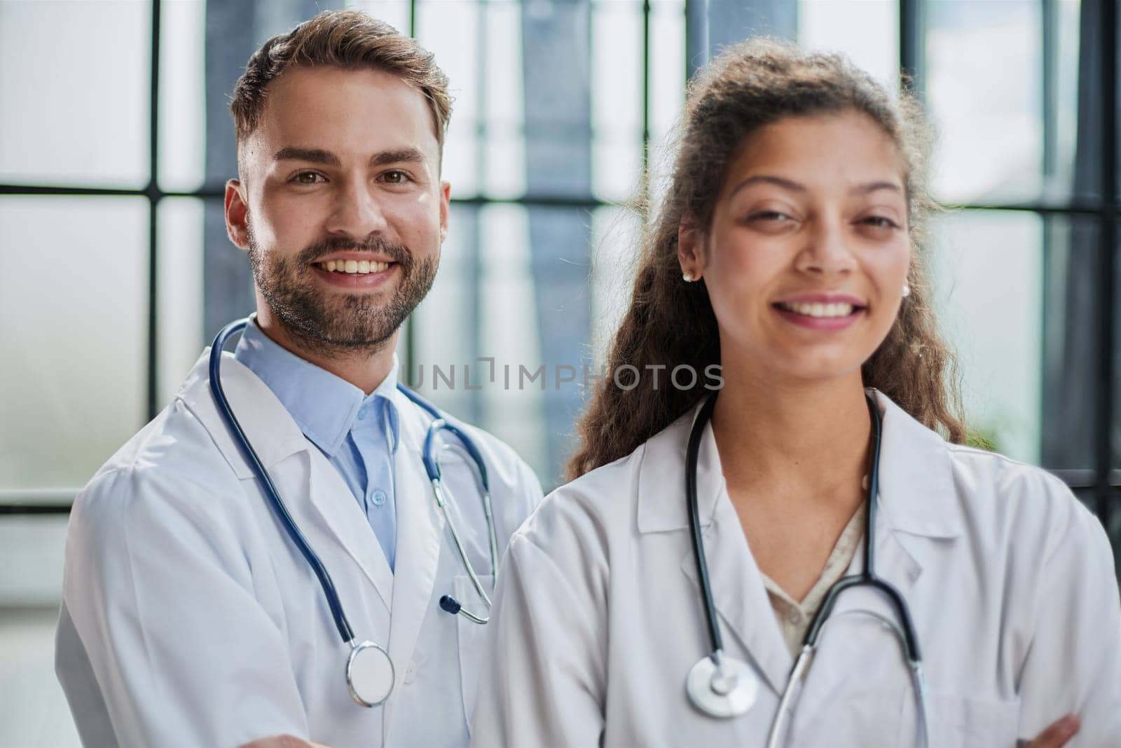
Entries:
[[[877,569],[910,604],[933,746],[1011,747],[1067,712],[1071,746],[1121,746],[1121,615],[1096,518],[1043,470],[945,443],[882,395]],[[631,455],[552,493],[515,534],[490,624],[472,745],[761,746],[793,665],[711,427],[698,464],[705,554],[725,650],[754,707],[696,711],[685,677],[711,652],[688,535],[695,409]],[[862,548],[863,546],[861,546]],[[849,573],[862,566],[858,550]],[[787,745],[911,746],[914,695],[891,615],[840,598]]]

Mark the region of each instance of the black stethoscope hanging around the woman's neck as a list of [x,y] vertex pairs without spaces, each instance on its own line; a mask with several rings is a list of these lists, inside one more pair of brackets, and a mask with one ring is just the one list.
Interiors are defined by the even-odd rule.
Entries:
[[[923,675],[923,659],[919,656],[918,638],[915,636],[915,626],[911,622],[910,610],[902,594],[890,582],[880,579],[876,574],[876,509],[879,495],[880,473],[880,442],[882,431],[882,417],[876,400],[865,393],[868,400],[868,412],[872,417],[872,469],[868,480],[868,515],[864,525],[864,569],[859,574],[845,576],[830,588],[822,601],[822,607],[817,610],[806,631],[806,638],[802,645],[802,652],[794,663],[790,677],[786,689],[779,700],[778,711],[771,722],[770,733],[767,738],[768,748],[778,748],[782,736],[784,722],[793,709],[795,686],[803,682],[809,668],[809,663],[814,652],[817,649],[822,631],[830,622],[830,615],[836,604],[837,598],[846,590],[858,587],[868,587],[879,591],[890,603],[899,624],[896,624],[886,616],[864,609],[846,610],[839,616],[862,615],[870,616],[889,630],[891,630],[899,641],[907,666],[910,671],[911,685],[915,691],[916,710],[918,718],[917,742],[920,746],[929,746],[930,738],[926,719],[926,678]],[[710,397],[693,422],[693,430],[689,432],[689,441],[685,451],[685,495],[689,504],[689,530],[693,536],[693,554],[697,564],[697,576],[701,581],[701,597],[704,602],[705,618],[708,622],[708,637],[712,641],[712,654],[705,655],[694,665],[685,681],[685,691],[689,701],[700,711],[716,718],[732,718],[745,714],[756,702],[759,692],[759,676],[743,662],[729,657],[724,654],[723,637],[720,631],[720,624],[716,620],[716,608],[712,600],[712,587],[708,583],[708,567],[704,556],[704,541],[701,537],[701,510],[697,502],[697,458],[701,452],[701,438],[704,430],[712,418],[713,408],[716,406],[716,395]]]

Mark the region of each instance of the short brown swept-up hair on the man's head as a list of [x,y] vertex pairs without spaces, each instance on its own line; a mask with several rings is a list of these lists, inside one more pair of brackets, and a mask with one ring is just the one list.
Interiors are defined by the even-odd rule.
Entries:
[[452,116],[447,76],[430,52],[359,10],[324,10],[253,53],[230,102],[239,147],[260,123],[269,83],[290,68],[318,65],[383,71],[417,89],[428,101],[436,142],[443,151]]

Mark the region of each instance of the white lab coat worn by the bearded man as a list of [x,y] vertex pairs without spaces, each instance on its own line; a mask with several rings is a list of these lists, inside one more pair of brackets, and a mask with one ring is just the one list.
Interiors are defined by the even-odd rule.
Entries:
[[[83,742],[225,747],[289,732],[333,748],[466,745],[484,627],[437,601],[482,603],[420,461],[430,416],[393,393],[393,574],[342,477],[268,387],[230,355],[222,380],[355,636],[388,649],[395,691],[382,708],[351,701],[350,647],[217,415],[204,354],[175,401],[99,471],[71,515],[56,672]],[[501,551],[540,487],[509,447],[469,431],[487,461]],[[489,581],[474,468],[446,441],[453,520]]]

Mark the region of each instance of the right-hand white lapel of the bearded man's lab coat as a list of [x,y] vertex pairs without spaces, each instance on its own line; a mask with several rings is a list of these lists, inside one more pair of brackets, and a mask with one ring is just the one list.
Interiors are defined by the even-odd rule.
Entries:
[[[425,616],[436,610],[433,589],[443,548],[444,518],[420,461],[426,425],[416,406],[401,406],[400,443],[393,459],[397,500],[397,565],[389,656],[400,686]],[[392,710],[387,704],[386,721]]]

